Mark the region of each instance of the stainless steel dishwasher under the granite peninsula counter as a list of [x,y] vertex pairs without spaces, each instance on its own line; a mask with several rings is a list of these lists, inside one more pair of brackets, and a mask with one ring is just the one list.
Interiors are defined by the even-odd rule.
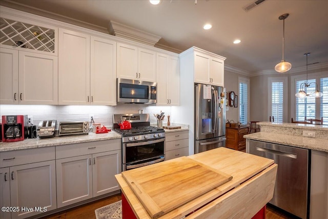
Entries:
[[269,202],[301,218],[309,218],[311,150],[248,140],[246,152],[278,164],[276,185]]

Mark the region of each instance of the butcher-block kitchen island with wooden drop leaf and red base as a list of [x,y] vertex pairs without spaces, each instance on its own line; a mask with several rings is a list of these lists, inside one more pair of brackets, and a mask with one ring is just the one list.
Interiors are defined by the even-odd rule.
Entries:
[[[272,198],[277,171],[277,165],[274,164],[273,160],[228,148],[221,147],[135,170],[143,171],[145,175],[149,175],[147,172],[156,175],[159,174],[156,172],[157,169],[165,166],[169,167],[172,163],[180,162],[186,158],[199,163],[201,166],[208,166],[209,169],[219,170],[224,175],[231,175],[232,179],[214,189],[199,194],[198,197],[187,203],[184,203],[185,200],[181,200],[180,202],[182,204],[178,204],[169,212],[162,212],[163,214],[159,215],[159,217],[151,217],[147,208],[144,207],[146,206],[146,200],[142,198],[140,200],[141,194],[139,192],[134,193],[136,191],[133,188],[134,186],[130,187],[131,183],[134,184],[137,182],[136,178],[135,181],[131,178],[131,181],[129,181],[122,174],[117,174],[115,177],[121,188],[122,196],[129,203],[127,206],[122,205],[123,216],[125,216],[125,210],[131,207],[137,218],[181,218],[184,216],[186,218],[251,218]],[[171,171],[173,175],[178,172],[178,170],[175,171],[172,169],[168,169],[167,171]],[[185,177],[183,171],[179,174],[181,174],[181,178]],[[170,177],[170,174],[167,177]],[[178,182],[176,178],[172,178],[172,181]],[[200,180],[195,185],[191,183],[188,185],[187,181],[188,186],[186,189],[191,189],[194,192],[197,191],[197,187],[199,188],[206,183],[207,181]],[[176,185],[178,184],[176,183]],[[135,185],[140,188],[137,183]],[[167,191],[166,194],[168,194]],[[172,193],[169,196],[177,198],[176,193]]]

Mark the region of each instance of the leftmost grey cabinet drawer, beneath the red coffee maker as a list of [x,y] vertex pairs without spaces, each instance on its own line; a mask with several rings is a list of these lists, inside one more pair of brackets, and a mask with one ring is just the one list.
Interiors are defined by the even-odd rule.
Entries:
[[10,167],[55,160],[55,147],[4,151],[0,153],[0,167]]

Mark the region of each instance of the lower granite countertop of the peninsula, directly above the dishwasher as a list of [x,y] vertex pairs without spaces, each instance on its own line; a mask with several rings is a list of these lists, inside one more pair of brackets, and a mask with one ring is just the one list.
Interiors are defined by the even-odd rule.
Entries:
[[[304,125],[304,124],[298,124],[298,125]],[[252,134],[247,134],[244,135],[244,138],[261,141],[261,142],[269,142],[274,144],[328,152],[328,140],[320,139],[320,138],[276,134],[270,132],[256,132]]]

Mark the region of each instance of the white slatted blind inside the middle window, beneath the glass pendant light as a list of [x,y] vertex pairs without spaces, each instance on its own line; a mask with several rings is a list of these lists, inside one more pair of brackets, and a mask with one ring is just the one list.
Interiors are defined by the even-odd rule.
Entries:
[[283,120],[283,82],[272,83],[272,108],[271,115],[275,122],[282,123]]

